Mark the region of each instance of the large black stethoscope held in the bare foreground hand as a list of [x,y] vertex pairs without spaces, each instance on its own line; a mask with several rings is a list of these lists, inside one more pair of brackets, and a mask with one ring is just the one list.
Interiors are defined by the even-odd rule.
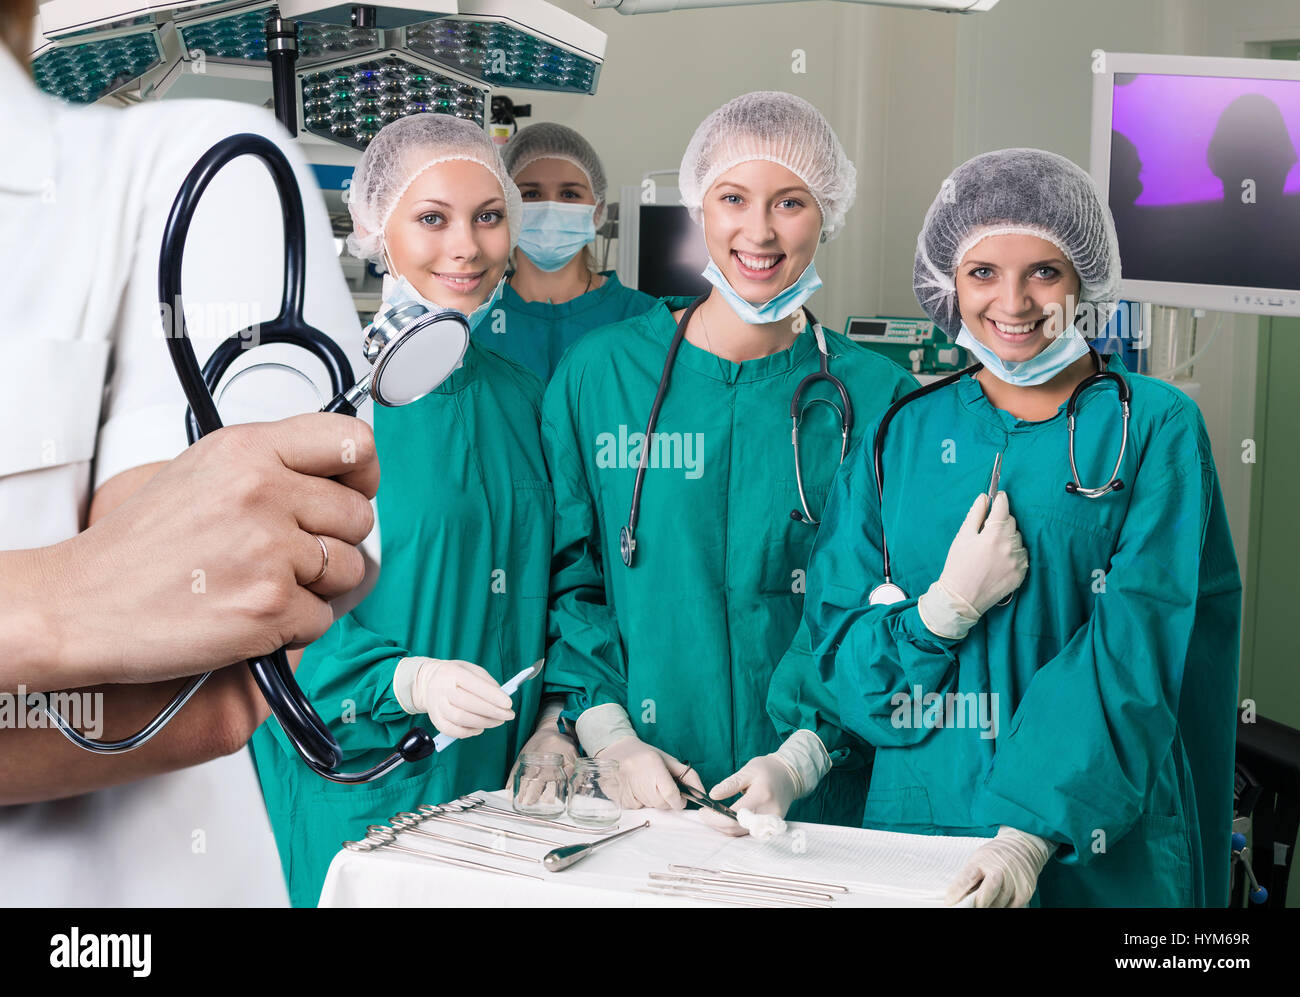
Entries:
[[[367,396],[381,406],[404,406],[433,391],[464,357],[469,343],[469,324],[464,316],[450,311],[430,312],[422,304],[413,302],[393,311],[381,309],[381,316],[367,330],[363,347],[365,359],[370,361],[370,369],[354,383],[352,368],[343,350],[303,320],[307,238],[302,194],[292,168],[270,139],[254,134],[231,135],[208,149],[185,178],[172,204],[159,253],[159,300],[162,304],[162,315],[172,315],[173,328],[164,331],[172,363],[190,403],[190,409],[186,412],[190,443],[221,428],[212,391],[235,359],[248,352],[248,333],[252,331],[246,329],[222,342],[200,372],[181,304],[181,264],[194,212],[217,172],[239,156],[256,156],[270,170],[285,220],[285,282],[280,315],[259,326],[260,342],[298,346],[325,365],[335,396],[321,409],[322,412],[355,415],[356,406]],[[394,365],[398,352],[402,354],[402,363]],[[289,659],[285,656],[285,649],[281,647],[264,658],[251,659],[248,668],[294,747],[303,760],[325,779],[335,783],[368,783],[403,762],[428,758],[434,751],[433,734],[416,727],[398,742],[393,754],[373,768],[363,772],[338,772],[343,751],[298,686]],[[130,751],[166,727],[209,675],[211,672],[207,672],[191,679],[147,727],[121,741],[91,741],[74,731],[57,712],[47,710],[47,714],[68,740],[87,751],[96,754]]]

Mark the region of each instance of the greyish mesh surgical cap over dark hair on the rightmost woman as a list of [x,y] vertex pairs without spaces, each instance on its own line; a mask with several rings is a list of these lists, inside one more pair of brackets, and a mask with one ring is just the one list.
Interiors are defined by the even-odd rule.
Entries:
[[1080,300],[1118,296],[1115,224],[1092,177],[1054,152],[985,152],[944,181],[916,237],[913,289],[949,337],[962,328],[954,279],[962,259],[978,242],[1009,234],[1036,235],[1061,250],[1079,274]]

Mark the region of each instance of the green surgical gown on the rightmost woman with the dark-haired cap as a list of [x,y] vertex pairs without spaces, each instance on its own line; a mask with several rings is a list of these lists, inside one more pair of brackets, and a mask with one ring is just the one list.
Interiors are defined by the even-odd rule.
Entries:
[[[853,454],[809,565],[815,656],[803,684],[829,684],[841,721],[876,746],[866,827],[992,835],[1005,824],[1058,842],[1039,879],[1044,906],[1223,906],[1236,556],[1196,404],[1118,359],[1110,369],[1131,386],[1132,421],[1124,487],[1098,499],[1065,489],[1065,404],[1019,420],[970,376],[889,425],[883,508],[871,447]],[[1121,445],[1113,385],[1080,396],[1076,426],[1080,480],[1102,485]],[[1028,573],[1010,604],[965,640],[942,640],[916,597],[998,452]],[[883,580],[881,520],[910,598],[868,606]]]

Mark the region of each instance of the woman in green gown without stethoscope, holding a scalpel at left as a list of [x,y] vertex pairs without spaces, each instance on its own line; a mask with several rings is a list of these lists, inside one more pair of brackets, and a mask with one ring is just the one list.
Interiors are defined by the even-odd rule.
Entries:
[[[387,125],[356,168],[354,256],[384,260],[384,307],[417,300],[473,326],[499,292],[520,216],[497,147],[471,122]],[[355,786],[298,758],[272,720],[254,737],[295,906],[316,903],[339,842],[420,803],[506,783],[533,733],[540,682],[500,682],[542,658],[552,498],[540,439],[541,382],[472,337],[429,395],[377,407],[382,571],[374,590],[311,645],[298,681],[367,768],[411,725],[467,738]],[[556,710],[558,712],[558,710]],[[575,755],[543,724],[549,750]]]

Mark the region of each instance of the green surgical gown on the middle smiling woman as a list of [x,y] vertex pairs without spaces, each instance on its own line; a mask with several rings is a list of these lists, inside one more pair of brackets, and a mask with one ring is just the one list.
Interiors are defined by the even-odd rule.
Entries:
[[[568,695],[571,716],[621,705],[641,738],[690,762],[712,786],[781,741],[766,711],[768,682],[798,627],[816,534],[790,515],[801,508],[790,399],[819,369],[819,351],[811,331],[742,364],[681,343],[628,568],[619,529],[677,325],[672,311],[689,303],[666,299],[589,333],[546,390],[542,442],[555,484],[546,684]],[[879,354],[833,331],[826,337],[829,369],[853,400],[857,438],[916,382]],[[803,400],[812,398],[838,403],[826,382]],[[800,445],[809,504],[820,516],[841,448],[828,406],[807,409]],[[826,780],[792,816],[857,824],[862,755],[838,742],[827,747],[846,766],[842,784]]]

